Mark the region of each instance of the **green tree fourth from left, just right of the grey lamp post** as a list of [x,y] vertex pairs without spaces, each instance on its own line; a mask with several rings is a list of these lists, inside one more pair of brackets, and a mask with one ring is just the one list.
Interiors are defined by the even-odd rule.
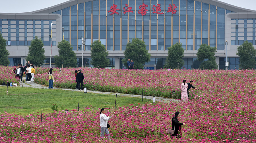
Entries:
[[95,68],[106,68],[109,65],[108,52],[101,41],[95,40],[91,45],[91,64]]

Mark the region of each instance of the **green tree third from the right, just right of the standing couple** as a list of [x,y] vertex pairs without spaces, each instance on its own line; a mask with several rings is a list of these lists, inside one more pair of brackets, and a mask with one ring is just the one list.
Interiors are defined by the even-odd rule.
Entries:
[[171,47],[168,47],[168,56],[166,57],[166,64],[164,68],[178,68],[179,69],[184,65],[183,58],[184,57],[184,49],[182,48],[181,43],[176,43]]

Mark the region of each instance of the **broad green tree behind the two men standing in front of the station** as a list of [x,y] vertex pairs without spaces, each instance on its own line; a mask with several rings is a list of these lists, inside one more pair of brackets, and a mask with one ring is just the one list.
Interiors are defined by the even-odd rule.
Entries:
[[133,38],[132,41],[129,41],[123,53],[125,55],[122,60],[123,64],[127,66],[128,59],[133,60],[135,69],[142,69],[143,64],[150,61],[151,54],[148,53],[145,42],[139,38]]

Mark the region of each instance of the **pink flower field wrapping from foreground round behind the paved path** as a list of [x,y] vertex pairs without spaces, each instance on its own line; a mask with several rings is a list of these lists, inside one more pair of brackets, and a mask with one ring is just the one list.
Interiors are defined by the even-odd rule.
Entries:
[[[4,67],[3,67],[4,68]],[[41,70],[36,82],[48,85]],[[46,72],[44,72],[46,71]],[[53,74],[54,87],[75,88],[75,68]],[[83,68],[89,90],[172,97],[183,79],[194,81],[187,101],[129,104],[109,108],[110,142],[256,142],[256,70],[110,70]],[[104,107],[103,107],[104,108]],[[181,139],[167,134],[176,111],[181,112]],[[0,142],[100,142],[100,109],[31,115],[0,114]],[[75,134],[76,137],[71,135]],[[104,140],[107,142],[108,140]]]

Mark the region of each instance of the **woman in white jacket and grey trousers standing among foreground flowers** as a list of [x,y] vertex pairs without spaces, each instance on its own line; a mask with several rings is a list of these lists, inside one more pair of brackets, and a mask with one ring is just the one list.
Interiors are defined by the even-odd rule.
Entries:
[[106,133],[108,135],[108,138],[110,139],[110,134],[109,134],[107,125],[108,125],[108,120],[110,120],[111,118],[111,113],[109,114],[108,117],[105,114],[106,114],[106,110],[102,108],[100,111],[100,137],[103,138],[104,133]]

